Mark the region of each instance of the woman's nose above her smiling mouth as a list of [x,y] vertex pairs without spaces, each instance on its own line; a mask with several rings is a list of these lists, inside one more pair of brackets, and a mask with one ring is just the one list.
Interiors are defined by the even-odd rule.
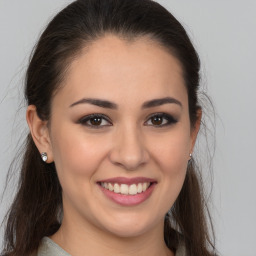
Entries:
[[110,161],[126,170],[137,170],[149,160],[145,140],[136,127],[119,130],[113,139]]

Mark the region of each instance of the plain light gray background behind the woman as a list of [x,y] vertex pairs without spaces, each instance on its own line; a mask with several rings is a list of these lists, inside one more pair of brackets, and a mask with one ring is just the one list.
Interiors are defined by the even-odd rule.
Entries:
[[[69,2],[0,0],[0,192],[25,127],[20,102],[28,56],[50,18]],[[183,23],[198,49],[203,83],[218,115],[213,190],[218,249],[226,256],[255,256],[256,1],[158,2]],[[0,219],[9,201],[2,202]]]

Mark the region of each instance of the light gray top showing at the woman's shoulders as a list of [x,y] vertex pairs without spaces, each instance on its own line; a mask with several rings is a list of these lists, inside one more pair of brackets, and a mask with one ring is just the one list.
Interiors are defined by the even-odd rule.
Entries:
[[[36,256],[71,256],[49,237],[42,239],[41,245]],[[180,246],[175,256],[185,256],[185,247]]]

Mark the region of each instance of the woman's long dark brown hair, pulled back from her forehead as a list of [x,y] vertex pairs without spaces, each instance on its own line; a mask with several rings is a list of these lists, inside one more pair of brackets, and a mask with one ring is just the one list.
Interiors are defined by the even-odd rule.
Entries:
[[[181,63],[189,99],[191,126],[198,118],[200,62],[182,25],[151,0],[78,0],[57,14],[41,35],[26,73],[25,97],[42,120],[50,120],[51,99],[82,48],[111,33],[124,40],[148,37]],[[175,252],[183,241],[190,256],[210,256],[206,202],[194,160],[183,188],[165,218],[165,241]],[[60,227],[62,188],[54,163],[45,164],[29,134],[19,185],[10,208],[3,254],[31,255],[44,236]]]

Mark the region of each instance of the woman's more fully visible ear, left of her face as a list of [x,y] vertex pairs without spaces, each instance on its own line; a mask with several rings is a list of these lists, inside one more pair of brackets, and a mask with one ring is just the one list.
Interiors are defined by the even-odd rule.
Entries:
[[26,119],[33,141],[40,154],[47,153],[47,163],[53,162],[52,146],[49,136],[47,121],[41,120],[36,111],[36,106],[29,105],[26,112]]

